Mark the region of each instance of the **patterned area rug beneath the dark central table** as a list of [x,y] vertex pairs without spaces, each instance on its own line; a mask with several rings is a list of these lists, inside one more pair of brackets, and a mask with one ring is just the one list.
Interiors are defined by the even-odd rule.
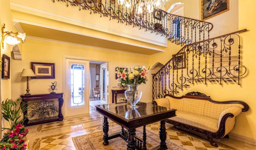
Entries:
[[[136,129],[136,136],[142,137],[143,128]],[[110,128],[108,134],[121,131],[121,127]],[[157,146],[160,142],[158,134],[155,134],[149,130],[146,130],[147,133],[147,149]],[[76,147],[76,150],[126,150],[126,141],[122,138],[114,138],[108,140],[108,145],[103,145],[102,142],[103,131],[89,133],[86,135],[76,136],[72,138],[73,143]],[[166,140],[166,144],[169,150],[186,150],[185,148],[177,145],[171,141]]]

